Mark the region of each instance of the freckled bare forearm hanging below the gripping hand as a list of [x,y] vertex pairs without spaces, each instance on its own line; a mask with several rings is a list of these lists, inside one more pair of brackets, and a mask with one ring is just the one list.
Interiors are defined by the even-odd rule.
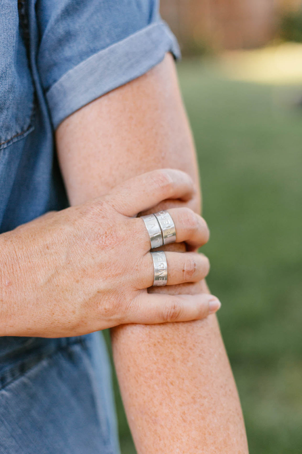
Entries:
[[215,316],[177,326],[120,326],[113,339],[120,389],[139,453],[247,452]]

